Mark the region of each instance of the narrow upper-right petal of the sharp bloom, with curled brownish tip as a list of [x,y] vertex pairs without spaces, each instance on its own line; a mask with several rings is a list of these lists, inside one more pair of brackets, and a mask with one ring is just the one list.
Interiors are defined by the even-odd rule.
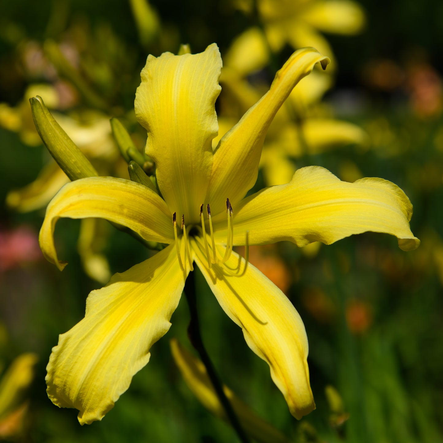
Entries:
[[226,198],[236,204],[253,187],[258,174],[264,136],[276,112],[294,86],[327,57],[313,48],[295,51],[277,72],[271,89],[220,140],[214,152],[214,162],[208,188],[208,201],[214,214],[222,211]]

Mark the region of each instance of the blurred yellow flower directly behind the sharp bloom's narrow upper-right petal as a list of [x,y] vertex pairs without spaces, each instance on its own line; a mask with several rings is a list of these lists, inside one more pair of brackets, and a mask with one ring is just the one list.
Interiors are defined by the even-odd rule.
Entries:
[[[226,54],[221,71],[224,88],[219,117],[219,135],[213,140],[215,148],[225,134],[262,95],[263,85],[251,85],[246,76],[268,63],[266,37],[258,28],[245,31],[234,40]],[[304,154],[318,154],[346,144],[364,145],[368,136],[355,124],[334,119],[320,99],[332,81],[319,71],[303,78],[289,94],[274,118],[260,160],[265,183],[288,183],[295,172],[296,159]]]

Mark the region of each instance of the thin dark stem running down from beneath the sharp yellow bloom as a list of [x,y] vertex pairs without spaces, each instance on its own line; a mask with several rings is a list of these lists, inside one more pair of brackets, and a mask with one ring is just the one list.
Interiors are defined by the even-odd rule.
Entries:
[[189,305],[189,313],[190,313],[190,322],[188,326],[188,336],[189,340],[194,346],[195,350],[200,355],[200,358],[203,364],[206,367],[206,372],[210,378],[212,385],[214,386],[214,390],[218,396],[218,400],[223,406],[226,416],[234,430],[237,433],[238,438],[242,443],[249,443],[249,437],[246,435],[245,431],[241,427],[240,421],[236,413],[234,412],[232,405],[230,404],[228,398],[223,391],[223,386],[221,384],[220,379],[218,378],[217,373],[215,372],[214,365],[209,358],[208,353],[206,352],[205,346],[203,345],[202,334],[200,333],[200,325],[198,323],[198,312],[197,312],[197,304],[195,298],[195,282],[194,282],[194,272],[190,272],[185,284],[185,296]]

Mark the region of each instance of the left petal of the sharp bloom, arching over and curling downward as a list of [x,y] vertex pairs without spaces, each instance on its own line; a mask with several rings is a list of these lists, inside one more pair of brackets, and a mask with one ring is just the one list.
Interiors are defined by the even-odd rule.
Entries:
[[166,203],[147,187],[113,177],[88,177],[67,183],[52,199],[40,229],[43,255],[62,270],[54,229],[59,218],[105,218],[138,233],[145,240],[174,241],[172,218]]

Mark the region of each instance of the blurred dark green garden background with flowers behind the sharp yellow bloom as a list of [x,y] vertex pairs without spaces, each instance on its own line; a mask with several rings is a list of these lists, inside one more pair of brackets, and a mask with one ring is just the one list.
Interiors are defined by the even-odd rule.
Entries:
[[[38,232],[68,179],[32,121],[41,95],[102,175],[128,177],[109,124],[140,152],[134,97],[148,54],[216,42],[223,135],[298,47],[330,56],[303,79],[265,140],[254,190],[319,165],[340,179],[381,177],[414,206],[419,249],[365,233],[303,249],[251,247],[250,260],[291,299],[310,344],[317,409],[289,413],[268,366],[195,272],[203,340],[221,379],[293,442],[443,441],[443,4],[435,0],[16,0],[0,3],[0,439],[23,442],[231,442],[229,425],[183,381],[169,339],[192,349],[184,300],[149,364],[101,422],[47,398],[58,334],[82,319],[89,291],[153,252],[101,221],[57,225],[61,273]],[[242,252],[242,251],[241,251]],[[268,440],[272,442],[272,440]]]

